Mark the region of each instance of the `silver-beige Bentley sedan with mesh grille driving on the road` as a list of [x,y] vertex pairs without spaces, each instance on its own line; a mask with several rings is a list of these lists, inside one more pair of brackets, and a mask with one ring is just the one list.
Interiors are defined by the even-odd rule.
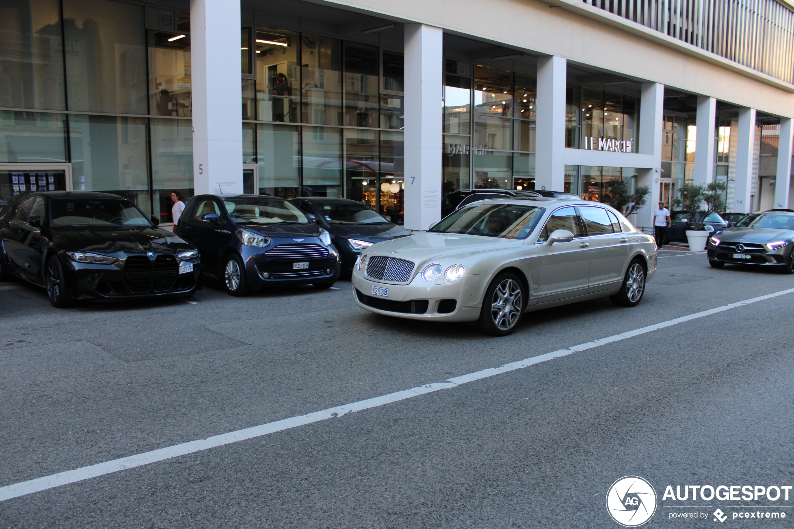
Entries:
[[369,247],[353,266],[353,296],[379,314],[477,321],[501,336],[524,312],[603,296],[633,307],[656,266],[653,237],[608,205],[494,199]]

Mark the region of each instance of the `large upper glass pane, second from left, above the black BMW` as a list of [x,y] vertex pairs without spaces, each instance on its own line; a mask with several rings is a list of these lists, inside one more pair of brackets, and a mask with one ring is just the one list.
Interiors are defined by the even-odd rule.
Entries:
[[68,108],[147,112],[144,7],[64,0]]

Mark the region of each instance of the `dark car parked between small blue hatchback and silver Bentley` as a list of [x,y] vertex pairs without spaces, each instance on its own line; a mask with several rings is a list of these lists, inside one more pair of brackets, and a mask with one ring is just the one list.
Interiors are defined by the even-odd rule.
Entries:
[[392,224],[364,202],[327,197],[300,197],[290,202],[328,230],[345,274],[353,271],[353,263],[365,248],[410,235],[407,229]]

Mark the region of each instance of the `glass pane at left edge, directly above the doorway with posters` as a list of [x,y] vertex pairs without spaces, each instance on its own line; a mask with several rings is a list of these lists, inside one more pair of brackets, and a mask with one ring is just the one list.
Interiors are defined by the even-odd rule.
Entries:
[[0,163],[66,162],[66,115],[0,110]]

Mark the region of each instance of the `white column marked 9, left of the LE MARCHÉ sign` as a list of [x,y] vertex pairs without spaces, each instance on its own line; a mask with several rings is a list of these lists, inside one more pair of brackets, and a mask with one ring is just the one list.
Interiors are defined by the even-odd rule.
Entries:
[[[565,188],[565,69],[568,61],[538,59],[538,112],[535,130],[535,189]],[[573,190],[576,193],[576,190]]]

